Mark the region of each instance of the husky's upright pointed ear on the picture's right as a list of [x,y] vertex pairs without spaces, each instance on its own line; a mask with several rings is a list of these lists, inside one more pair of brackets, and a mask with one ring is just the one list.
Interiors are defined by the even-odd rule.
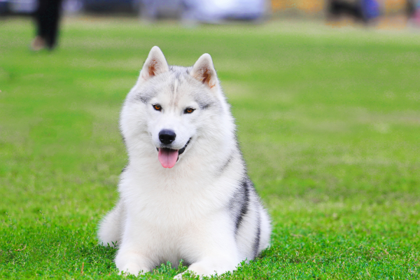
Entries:
[[213,60],[208,53],[204,53],[193,66],[191,76],[207,85],[211,89],[216,89],[218,80],[216,76],[216,70],[213,66]]

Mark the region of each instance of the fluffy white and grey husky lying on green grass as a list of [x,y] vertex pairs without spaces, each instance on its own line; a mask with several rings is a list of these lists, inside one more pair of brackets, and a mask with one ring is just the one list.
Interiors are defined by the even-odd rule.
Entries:
[[183,260],[190,273],[223,274],[269,246],[269,215],[209,54],[192,67],[169,66],[153,47],[123,104],[120,130],[129,163],[120,199],[98,230],[100,244],[117,245],[120,272]]

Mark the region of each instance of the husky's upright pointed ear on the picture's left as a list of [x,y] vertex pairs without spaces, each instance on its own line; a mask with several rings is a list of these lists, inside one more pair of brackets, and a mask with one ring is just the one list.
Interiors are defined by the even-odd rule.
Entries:
[[168,63],[158,46],[154,46],[144,62],[143,69],[140,71],[139,82],[169,71]]

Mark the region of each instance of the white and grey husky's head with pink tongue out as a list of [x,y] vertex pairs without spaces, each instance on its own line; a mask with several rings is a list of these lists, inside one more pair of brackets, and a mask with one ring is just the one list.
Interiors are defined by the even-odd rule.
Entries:
[[120,125],[129,153],[153,150],[162,167],[172,168],[197,140],[222,134],[222,116],[231,119],[210,55],[192,67],[169,66],[155,46],[127,96]]

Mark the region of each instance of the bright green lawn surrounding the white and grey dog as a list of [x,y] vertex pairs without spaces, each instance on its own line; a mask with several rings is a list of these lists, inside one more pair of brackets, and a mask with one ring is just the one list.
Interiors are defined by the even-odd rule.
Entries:
[[33,29],[0,22],[0,278],[120,278],[95,231],[127,161],[120,106],[153,45],[169,64],[212,55],[272,216],[272,246],[220,279],[420,278],[419,34],[81,18],[32,53]]

